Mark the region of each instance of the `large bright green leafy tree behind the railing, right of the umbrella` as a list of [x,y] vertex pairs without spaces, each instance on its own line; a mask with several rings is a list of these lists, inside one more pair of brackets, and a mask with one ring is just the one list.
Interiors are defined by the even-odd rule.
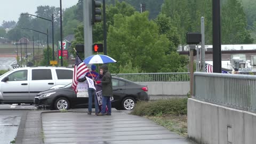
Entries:
[[174,72],[180,67],[177,52],[166,55],[169,39],[159,34],[156,23],[148,19],[148,12],[135,12],[130,17],[116,14],[114,26],[109,27],[107,42],[108,54],[117,60],[115,69],[127,65],[127,61],[131,61],[139,72],[146,73]]

